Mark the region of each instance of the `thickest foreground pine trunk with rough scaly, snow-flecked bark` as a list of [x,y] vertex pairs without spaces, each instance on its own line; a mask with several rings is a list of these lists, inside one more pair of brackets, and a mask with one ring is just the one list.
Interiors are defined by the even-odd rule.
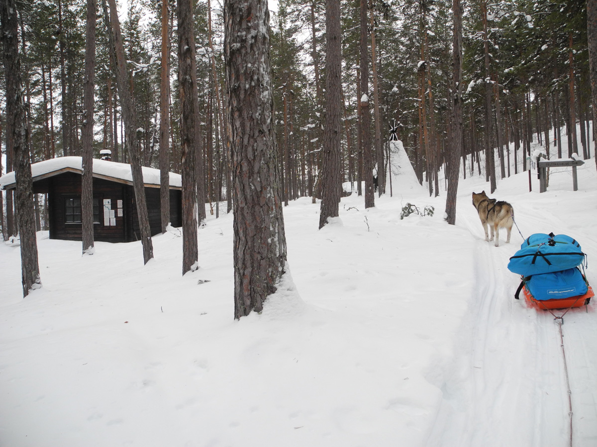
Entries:
[[260,312],[286,267],[267,0],[224,2],[236,319]]

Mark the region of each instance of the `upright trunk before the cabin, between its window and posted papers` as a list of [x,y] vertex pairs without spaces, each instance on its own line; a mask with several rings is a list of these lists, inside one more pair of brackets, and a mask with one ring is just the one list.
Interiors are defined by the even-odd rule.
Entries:
[[85,75],[83,79],[83,157],[81,170],[81,227],[83,254],[93,254],[93,112],[96,72],[96,0],[87,0]]

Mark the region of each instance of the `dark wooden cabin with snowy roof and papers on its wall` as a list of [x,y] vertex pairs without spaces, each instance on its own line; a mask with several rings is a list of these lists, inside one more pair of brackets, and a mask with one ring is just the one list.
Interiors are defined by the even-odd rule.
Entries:
[[[50,239],[81,240],[81,157],[60,157],[31,165],[33,193],[48,194]],[[152,236],[161,232],[159,170],[143,167]],[[14,172],[0,177],[0,187],[14,189]],[[139,216],[130,164],[93,160],[94,240],[140,239]],[[181,176],[170,173],[170,222],[182,225]]]

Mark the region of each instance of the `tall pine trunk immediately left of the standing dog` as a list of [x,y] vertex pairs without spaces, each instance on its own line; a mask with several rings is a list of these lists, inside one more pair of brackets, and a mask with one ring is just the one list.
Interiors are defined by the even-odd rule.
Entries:
[[460,176],[460,154],[463,146],[462,134],[462,4],[453,0],[453,59],[452,59],[452,91],[453,103],[450,116],[451,148],[448,155],[448,191],[446,194],[446,221],[456,224],[456,193]]

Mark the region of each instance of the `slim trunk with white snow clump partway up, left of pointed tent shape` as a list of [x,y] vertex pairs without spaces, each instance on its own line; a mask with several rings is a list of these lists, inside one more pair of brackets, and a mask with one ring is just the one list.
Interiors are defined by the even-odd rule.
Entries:
[[361,134],[364,150],[365,208],[375,206],[373,185],[373,148],[369,111],[369,54],[367,45],[367,0],[361,0]]

